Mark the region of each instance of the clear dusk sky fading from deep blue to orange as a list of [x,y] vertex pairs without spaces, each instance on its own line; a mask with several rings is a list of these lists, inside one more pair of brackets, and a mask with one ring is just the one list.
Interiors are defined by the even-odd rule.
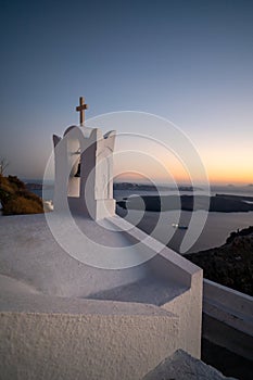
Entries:
[[[42,178],[52,134],[78,124],[75,106],[84,96],[87,118],[134,111],[173,122],[211,182],[253,182],[251,0],[1,0],[0,7],[0,157],[10,163],[8,174]],[[135,128],[170,138],[159,123]],[[126,123],[116,129],[129,131]]]

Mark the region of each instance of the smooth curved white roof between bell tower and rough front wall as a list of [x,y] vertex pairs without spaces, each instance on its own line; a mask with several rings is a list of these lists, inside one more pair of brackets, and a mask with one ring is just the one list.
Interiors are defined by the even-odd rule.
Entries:
[[[110,244],[121,250],[132,243],[126,232],[104,229],[86,218],[76,220],[85,233],[101,245]],[[96,251],[92,254],[96,255]],[[0,218],[0,275],[5,276],[1,282],[3,287],[8,278],[15,280],[13,291],[15,284],[17,289],[26,284],[33,291],[49,295],[94,296],[161,305],[185,292],[190,281],[186,284],[175,279],[174,270],[169,271],[169,268],[166,278],[161,276],[153,268],[155,259],[126,269],[96,268],[78,262],[58,244],[43,215]]]

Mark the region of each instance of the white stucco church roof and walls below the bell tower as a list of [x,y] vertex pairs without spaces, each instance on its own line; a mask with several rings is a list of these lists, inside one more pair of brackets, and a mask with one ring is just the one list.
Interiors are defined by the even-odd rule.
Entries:
[[[76,223],[112,246],[143,238]],[[0,275],[3,379],[137,380],[179,349],[200,357],[202,270],[170,250],[96,268],[64,252],[45,215],[5,216]]]

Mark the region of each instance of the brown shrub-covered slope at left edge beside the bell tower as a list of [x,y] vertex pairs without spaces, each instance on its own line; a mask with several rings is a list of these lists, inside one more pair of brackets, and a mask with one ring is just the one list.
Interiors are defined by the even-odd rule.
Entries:
[[0,175],[0,202],[3,215],[43,213],[42,200],[14,176]]

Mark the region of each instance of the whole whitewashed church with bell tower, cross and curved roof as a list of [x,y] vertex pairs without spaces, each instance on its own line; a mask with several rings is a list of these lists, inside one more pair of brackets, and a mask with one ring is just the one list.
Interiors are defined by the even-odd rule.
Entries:
[[53,136],[54,211],[0,218],[0,379],[223,379],[200,360],[202,269],[115,214],[116,132],[86,107]]

